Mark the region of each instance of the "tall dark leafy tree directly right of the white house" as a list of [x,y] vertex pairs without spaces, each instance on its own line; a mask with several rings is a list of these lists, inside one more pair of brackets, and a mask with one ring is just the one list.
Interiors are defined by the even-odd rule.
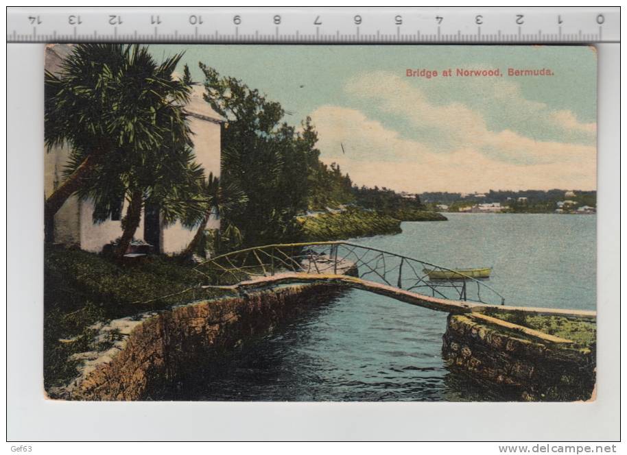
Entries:
[[298,238],[296,215],[307,208],[307,143],[286,123],[279,103],[234,77],[204,73],[204,100],[228,120],[222,135],[222,182],[235,182],[245,210],[224,213],[225,227],[241,232],[244,246]]

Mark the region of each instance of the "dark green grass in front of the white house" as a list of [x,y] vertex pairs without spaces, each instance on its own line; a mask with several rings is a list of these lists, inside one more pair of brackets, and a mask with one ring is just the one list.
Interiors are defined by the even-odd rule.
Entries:
[[90,344],[95,335],[90,325],[189,302],[191,293],[148,301],[195,286],[199,276],[177,258],[147,256],[125,262],[80,249],[46,246],[45,386],[67,384],[76,375],[78,362],[69,360],[72,354],[102,348]]

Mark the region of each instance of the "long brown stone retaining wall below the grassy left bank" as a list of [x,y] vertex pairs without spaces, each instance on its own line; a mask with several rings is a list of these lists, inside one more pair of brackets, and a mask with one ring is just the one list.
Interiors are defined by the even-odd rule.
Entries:
[[290,286],[180,306],[136,323],[127,321],[126,326],[132,327],[128,336],[87,362],[69,386],[50,395],[83,400],[161,399],[203,359],[211,365],[212,358],[254,343],[276,325],[328,302],[338,292],[338,286]]

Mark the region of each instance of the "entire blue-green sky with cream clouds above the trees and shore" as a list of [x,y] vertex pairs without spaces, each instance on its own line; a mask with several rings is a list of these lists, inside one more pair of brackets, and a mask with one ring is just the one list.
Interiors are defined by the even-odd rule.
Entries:
[[[410,193],[596,188],[595,49],[587,46],[151,45],[185,51],[311,116],[320,159],[358,185]],[[510,77],[508,68],[552,76]],[[407,77],[407,69],[438,77]],[[500,69],[497,77],[444,77]],[[342,151],[342,146],[344,151]]]

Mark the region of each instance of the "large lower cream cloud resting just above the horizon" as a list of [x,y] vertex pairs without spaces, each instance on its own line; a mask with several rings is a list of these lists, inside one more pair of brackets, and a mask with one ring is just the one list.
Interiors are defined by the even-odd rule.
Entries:
[[359,110],[322,106],[311,117],[322,160],[338,162],[358,185],[410,192],[596,186],[592,146],[540,142],[508,130],[483,131],[482,138],[443,153],[403,138]]

